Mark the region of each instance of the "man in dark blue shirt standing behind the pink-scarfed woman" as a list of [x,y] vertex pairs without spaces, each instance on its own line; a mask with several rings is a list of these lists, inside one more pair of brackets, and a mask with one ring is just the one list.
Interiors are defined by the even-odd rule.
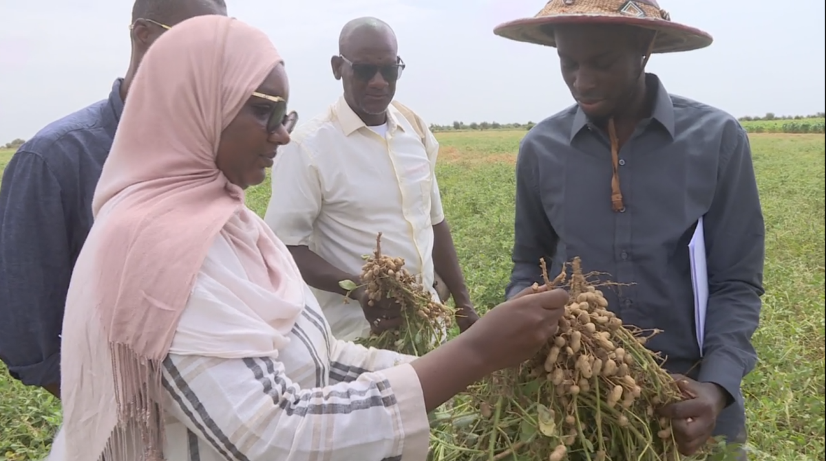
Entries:
[[132,53],[109,97],[24,143],[0,183],[0,360],[15,379],[59,397],[60,330],[92,197],[140,59],[170,26],[226,16],[223,0],[136,0]]

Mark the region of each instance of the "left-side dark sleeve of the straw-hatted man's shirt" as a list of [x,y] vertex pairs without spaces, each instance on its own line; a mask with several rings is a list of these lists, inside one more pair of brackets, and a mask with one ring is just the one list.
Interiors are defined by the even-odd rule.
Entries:
[[523,289],[542,282],[539,259],[545,258],[548,268],[557,246],[558,236],[545,214],[537,176],[538,162],[534,144],[529,138],[520,143],[516,158],[516,204],[514,220],[514,247],[511,254],[513,269],[505,296],[507,299]]

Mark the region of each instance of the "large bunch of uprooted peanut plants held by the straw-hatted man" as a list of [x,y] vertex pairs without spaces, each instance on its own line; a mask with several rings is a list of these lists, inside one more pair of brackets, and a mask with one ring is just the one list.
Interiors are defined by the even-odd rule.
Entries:
[[465,416],[452,416],[453,430],[437,436],[453,447],[441,459],[681,459],[671,421],[656,415],[657,407],[684,398],[660,357],[644,346],[656,332],[624,326],[586,280],[579,258],[566,265],[567,283],[566,268],[548,280],[541,265],[549,288],[569,289],[558,336],[534,359],[468,389],[472,422],[456,430]]

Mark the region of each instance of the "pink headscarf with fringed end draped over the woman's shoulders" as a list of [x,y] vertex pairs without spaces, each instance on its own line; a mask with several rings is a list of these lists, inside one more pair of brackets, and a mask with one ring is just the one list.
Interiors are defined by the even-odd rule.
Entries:
[[221,132],[281,62],[263,32],[198,16],[164,33],[140,64],[69,288],[65,459],[164,459],[161,362],[218,233],[249,280],[275,294],[271,327],[286,336],[301,314],[295,262],[216,167]]

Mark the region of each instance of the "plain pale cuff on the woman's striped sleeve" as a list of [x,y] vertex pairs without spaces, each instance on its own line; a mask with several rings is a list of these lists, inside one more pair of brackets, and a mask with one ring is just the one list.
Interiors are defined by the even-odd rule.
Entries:
[[427,459],[430,421],[425,412],[425,394],[421,390],[419,375],[410,364],[398,365],[378,373],[383,374],[390,383],[399,407],[404,432],[401,459]]

